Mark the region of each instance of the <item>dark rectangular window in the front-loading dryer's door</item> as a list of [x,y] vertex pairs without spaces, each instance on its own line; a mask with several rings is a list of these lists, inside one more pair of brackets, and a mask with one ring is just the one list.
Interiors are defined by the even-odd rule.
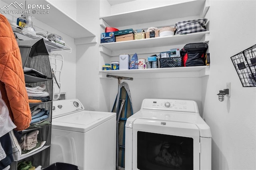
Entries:
[[140,170],[193,170],[193,138],[150,132],[137,133]]

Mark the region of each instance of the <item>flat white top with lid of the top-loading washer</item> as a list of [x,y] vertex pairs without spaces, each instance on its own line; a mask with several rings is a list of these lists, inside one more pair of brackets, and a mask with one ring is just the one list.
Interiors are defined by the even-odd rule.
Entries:
[[52,128],[87,132],[115,116],[112,112],[80,111],[52,119]]

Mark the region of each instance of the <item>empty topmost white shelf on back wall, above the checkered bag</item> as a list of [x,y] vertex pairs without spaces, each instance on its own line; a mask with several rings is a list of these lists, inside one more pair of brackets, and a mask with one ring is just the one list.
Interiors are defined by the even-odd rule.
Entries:
[[[200,16],[204,9],[205,0],[190,0],[183,3],[170,4],[144,10],[124,12],[109,16],[100,17],[111,27],[122,27],[136,24],[143,24],[155,21],[164,21],[174,18],[184,18],[188,16]],[[182,9],[182,10],[181,10]],[[162,14],[162,15],[158,15]]]

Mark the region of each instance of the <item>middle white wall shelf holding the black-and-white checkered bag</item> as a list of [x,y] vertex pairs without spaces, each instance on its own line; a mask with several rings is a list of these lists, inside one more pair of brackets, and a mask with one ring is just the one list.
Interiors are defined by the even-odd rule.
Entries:
[[162,46],[179,45],[179,44],[187,44],[187,43],[194,43],[194,42],[207,43],[209,34],[210,34],[210,31],[205,31],[205,32],[196,32],[191,34],[183,34],[183,35],[146,38],[141,40],[130,40],[130,41],[124,41],[124,42],[101,43],[100,52],[105,53],[109,56],[115,56],[116,53],[113,53],[113,51],[116,51],[116,50],[162,47]]

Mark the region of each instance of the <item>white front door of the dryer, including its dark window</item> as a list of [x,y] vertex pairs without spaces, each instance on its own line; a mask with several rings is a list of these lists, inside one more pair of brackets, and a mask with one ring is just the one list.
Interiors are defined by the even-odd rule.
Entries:
[[200,169],[199,129],[192,123],[136,119],[133,170]]

